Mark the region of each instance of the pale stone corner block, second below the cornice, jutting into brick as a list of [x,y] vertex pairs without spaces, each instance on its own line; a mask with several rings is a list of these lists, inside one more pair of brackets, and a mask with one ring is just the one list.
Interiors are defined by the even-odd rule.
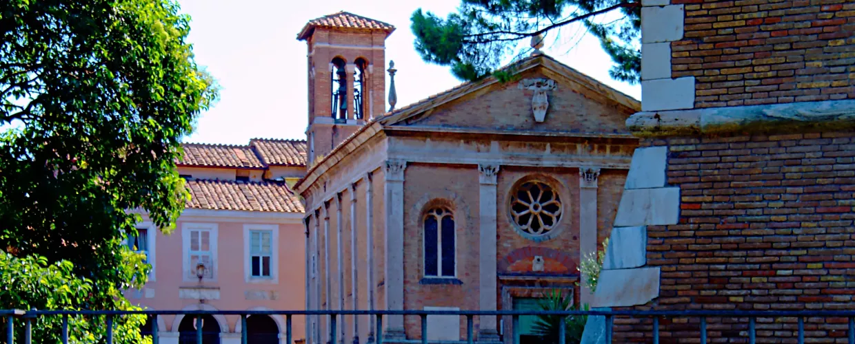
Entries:
[[616,227],[677,224],[680,188],[626,189],[617,207]]

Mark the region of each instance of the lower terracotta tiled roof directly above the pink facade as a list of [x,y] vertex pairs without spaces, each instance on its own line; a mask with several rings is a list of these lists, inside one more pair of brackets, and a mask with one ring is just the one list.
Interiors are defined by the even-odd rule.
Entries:
[[210,210],[303,213],[303,204],[285,183],[188,180],[186,207]]

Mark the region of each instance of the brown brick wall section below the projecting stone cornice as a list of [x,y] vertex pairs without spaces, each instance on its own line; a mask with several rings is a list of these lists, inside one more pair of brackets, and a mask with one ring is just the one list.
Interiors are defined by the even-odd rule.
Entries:
[[[669,138],[667,178],[680,223],[649,226],[659,298],[638,309],[855,309],[855,133]],[[746,338],[746,319],[711,318],[711,341]],[[844,341],[845,319],[808,319],[805,337]],[[663,342],[696,342],[699,320],[665,321]],[[759,319],[758,342],[794,337],[795,318]],[[616,320],[617,341],[650,324]],[[647,337],[640,337],[646,335]],[[679,339],[677,339],[679,337]]]

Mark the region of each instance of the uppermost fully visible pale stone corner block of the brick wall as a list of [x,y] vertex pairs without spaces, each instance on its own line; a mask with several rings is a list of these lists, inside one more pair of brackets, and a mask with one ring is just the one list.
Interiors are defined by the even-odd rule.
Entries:
[[674,42],[683,38],[683,5],[641,8],[641,43]]

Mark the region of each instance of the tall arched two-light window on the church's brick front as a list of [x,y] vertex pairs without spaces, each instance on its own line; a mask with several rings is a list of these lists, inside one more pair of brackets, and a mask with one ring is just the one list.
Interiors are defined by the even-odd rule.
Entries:
[[455,277],[454,214],[444,207],[434,207],[424,218],[425,276]]

